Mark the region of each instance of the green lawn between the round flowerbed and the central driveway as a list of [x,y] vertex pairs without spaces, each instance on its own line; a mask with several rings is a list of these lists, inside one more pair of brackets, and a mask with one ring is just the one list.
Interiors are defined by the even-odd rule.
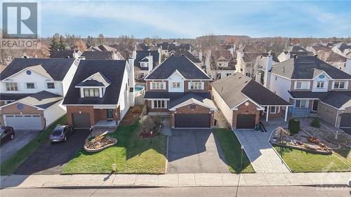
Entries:
[[166,170],[166,136],[142,139],[139,135],[139,122],[119,126],[112,137],[118,140],[116,146],[98,153],[84,150],[73,158],[63,174],[110,173],[116,162],[116,173],[162,174]]

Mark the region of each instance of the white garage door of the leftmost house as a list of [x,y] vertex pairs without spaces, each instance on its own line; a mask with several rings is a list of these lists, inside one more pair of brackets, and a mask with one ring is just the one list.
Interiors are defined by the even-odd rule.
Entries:
[[5,125],[15,130],[42,130],[40,115],[4,115]]

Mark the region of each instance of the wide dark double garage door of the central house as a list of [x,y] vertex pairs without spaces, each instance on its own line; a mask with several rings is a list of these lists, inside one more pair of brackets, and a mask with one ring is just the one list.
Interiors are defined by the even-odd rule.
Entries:
[[210,128],[211,114],[176,114],[176,128]]

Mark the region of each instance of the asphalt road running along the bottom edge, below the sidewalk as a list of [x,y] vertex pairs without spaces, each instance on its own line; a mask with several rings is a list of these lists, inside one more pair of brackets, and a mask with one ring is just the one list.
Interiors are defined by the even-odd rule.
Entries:
[[[235,196],[236,187],[183,187],[149,189],[2,189],[1,197],[40,196]],[[237,196],[350,196],[350,188],[318,188],[312,186],[246,186]]]

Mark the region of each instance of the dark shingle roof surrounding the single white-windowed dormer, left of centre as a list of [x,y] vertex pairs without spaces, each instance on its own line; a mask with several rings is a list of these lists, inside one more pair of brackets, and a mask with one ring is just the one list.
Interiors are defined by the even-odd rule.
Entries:
[[[125,68],[126,60],[81,60],[63,104],[118,104]],[[105,95],[102,98],[81,98],[80,90],[75,86],[98,72],[110,81]]]

